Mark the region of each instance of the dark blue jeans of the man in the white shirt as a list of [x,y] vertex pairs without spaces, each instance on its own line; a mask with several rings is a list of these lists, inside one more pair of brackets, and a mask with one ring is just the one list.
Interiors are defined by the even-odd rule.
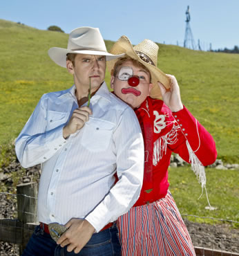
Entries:
[[79,253],[68,253],[67,246],[61,248],[40,226],[35,228],[22,256],[64,256],[64,255],[121,255],[120,239],[116,223],[106,230],[93,234]]

